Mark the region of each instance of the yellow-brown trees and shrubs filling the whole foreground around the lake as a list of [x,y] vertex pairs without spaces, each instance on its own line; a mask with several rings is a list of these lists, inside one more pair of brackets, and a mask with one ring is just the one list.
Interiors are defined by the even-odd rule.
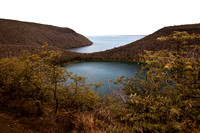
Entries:
[[[191,44],[199,39],[186,31],[157,37],[172,47],[138,54],[142,70],[110,81],[117,95],[105,97],[95,92],[101,84],[57,65],[63,51],[48,45],[2,58],[1,111],[33,132],[200,132],[200,46]],[[80,55],[72,59],[97,57]]]

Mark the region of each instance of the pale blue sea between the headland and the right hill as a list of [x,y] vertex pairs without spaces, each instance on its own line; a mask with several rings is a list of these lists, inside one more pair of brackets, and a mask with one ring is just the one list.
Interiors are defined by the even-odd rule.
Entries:
[[123,46],[143,38],[145,35],[121,35],[121,36],[87,36],[93,42],[91,46],[68,49],[79,53],[93,53],[105,51]]

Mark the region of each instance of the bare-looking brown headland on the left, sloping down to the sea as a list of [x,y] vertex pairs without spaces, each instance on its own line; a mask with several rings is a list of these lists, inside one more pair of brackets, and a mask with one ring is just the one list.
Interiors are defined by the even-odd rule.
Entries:
[[43,42],[62,49],[92,45],[69,28],[0,19],[0,45],[38,46]]

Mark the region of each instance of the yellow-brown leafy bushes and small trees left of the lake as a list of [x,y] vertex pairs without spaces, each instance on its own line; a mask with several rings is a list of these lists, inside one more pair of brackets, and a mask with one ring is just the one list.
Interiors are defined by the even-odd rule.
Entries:
[[[55,60],[61,52],[48,45],[34,54],[24,51],[19,58],[0,60],[0,103],[20,115],[42,115],[58,112],[59,107],[87,110],[98,105],[98,95],[85,79],[72,76]],[[69,80],[70,82],[67,82]],[[54,111],[53,111],[54,110]]]

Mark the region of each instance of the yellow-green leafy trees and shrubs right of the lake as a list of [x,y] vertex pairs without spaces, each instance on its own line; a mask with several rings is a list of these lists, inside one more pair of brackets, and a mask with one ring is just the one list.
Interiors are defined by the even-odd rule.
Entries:
[[199,131],[200,59],[193,52],[199,46],[187,45],[191,39],[199,35],[175,31],[158,38],[176,43],[174,49],[144,51],[142,71],[113,82],[122,85],[128,99],[117,117],[134,127],[132,132]]

